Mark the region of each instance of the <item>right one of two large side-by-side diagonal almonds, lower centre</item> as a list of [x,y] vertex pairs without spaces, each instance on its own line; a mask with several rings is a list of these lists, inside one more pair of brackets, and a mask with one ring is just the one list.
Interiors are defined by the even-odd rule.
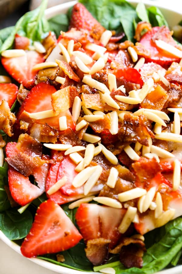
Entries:
[[88,195],[88,193],[94,187],[96,182],[99,180],[99,177],[103,171],[103,168],[99,165],[93,168],[94,168],[94,172],[91,174],[91,176],[88,178],[88,180],[84,184],[84,195]]

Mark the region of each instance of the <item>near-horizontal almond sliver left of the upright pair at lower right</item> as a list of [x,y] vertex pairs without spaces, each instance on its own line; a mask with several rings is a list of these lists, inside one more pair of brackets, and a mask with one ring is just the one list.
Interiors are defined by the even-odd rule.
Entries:
[[139,198],[147,193],[146,189],[144,188],[133,188],[122,193],[118,194],[118,198],[120,202],[126,202],[133,200],[135,198]]

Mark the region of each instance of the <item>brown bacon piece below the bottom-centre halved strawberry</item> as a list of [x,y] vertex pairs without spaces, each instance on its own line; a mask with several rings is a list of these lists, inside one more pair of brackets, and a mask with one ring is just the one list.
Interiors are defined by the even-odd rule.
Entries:
[[110,240],[103,238],[87,241],[87,247],[85,248],[86,257],[93,265],[101,265],[103,263],[107,256],[110,242]]

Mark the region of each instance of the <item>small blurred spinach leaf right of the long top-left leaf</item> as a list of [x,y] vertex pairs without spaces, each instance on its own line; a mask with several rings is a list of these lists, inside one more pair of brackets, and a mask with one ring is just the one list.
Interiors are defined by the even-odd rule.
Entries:
[[49,19],[50,30],[53,31],[57,37],[60,35],[60,30],[67,31],[69,26],[68,16],[66,14],[58,14]]

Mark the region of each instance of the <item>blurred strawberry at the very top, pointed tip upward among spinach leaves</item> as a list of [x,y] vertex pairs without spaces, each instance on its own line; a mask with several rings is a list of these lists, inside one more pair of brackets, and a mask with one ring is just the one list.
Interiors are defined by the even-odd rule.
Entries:
[[93,27],[102,32],[105,30],[83,4],[76,3],[72,9],[69,28],[92,30]]

